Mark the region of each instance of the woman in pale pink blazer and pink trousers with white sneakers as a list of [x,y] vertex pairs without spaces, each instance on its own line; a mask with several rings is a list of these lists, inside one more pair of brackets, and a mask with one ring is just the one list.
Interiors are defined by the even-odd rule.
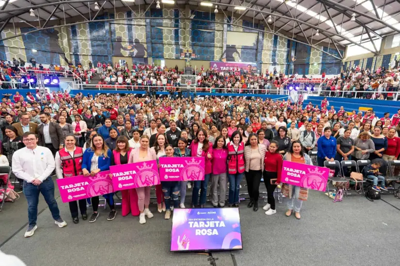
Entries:
[[[128,163],[139,163],[156,160],[156,152],[149,148],[149,137],[142,135],[140,137],[140,148],[135,148],[129,155]],[[152,218],[153,214],[149,210],[151,187],[136,188],[138,194],[138,206],[140,211],[139,222],[145,223],[147,218]]]

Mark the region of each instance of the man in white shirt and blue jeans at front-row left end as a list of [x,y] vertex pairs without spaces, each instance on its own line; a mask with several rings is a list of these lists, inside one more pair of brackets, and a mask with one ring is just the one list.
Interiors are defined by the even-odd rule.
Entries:
[[54,183],[51,172],[55,168],[54,157],[46,147],[37,145],[38,137],[31,132],[22,135],[25,148],[17,150],[13,155],[13,172],[16,177],[24,179],[24,194],[28,201],[29,226],[25,237],[32,236],[37,229],[37,205],[39,194],[48,204],[48,208],[59,227],[66,226],[66,222],[60,216],[57,202],[54,198]]

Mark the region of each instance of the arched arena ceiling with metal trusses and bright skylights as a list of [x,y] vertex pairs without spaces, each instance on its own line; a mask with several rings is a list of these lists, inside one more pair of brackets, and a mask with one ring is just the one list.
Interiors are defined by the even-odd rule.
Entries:
[[[163,3],[161,8],[198,9],[262,23],[265,30],[318,45],[363,46],[371,40],[400,33],[400,0],[216,0],[212,6],[201,0]],[[170,0],[171,1],[171,0]],[[122,10],[156,8],[157,0],[0,0],[0,31],[13,23],[37,29],[90,21]],[[32,12],[30,12],[32,8]],[[271,15],[271,18],[269,17]],[[40,17],[40,25],[39,24]],[[235,18],[231,23],[235,23]],[[317,33],[318,30],[318,33]],[[378,53],[378,47],[368,49]]]

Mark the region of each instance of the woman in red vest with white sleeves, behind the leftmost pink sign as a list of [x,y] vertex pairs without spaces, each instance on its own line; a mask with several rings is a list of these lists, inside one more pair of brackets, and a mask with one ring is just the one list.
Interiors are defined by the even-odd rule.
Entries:
[[[76,147],[76,138],[74,134],[65,136],[65,147],[57,151],[56,174],[57,178],[75,177],[83,174],[82,172],[82,148]],[[82,219],[87,219],[86,199],[79,200],[79,209]],[[76,201],[69,202],[69,210],[71,211],[72,222],[78,223],[78,204]]]

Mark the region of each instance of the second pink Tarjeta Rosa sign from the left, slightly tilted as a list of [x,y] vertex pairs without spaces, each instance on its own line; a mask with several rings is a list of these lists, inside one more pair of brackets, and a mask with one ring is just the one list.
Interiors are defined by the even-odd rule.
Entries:
[[149,187],[160,184],[157,161],[110,166],[114,190]]

